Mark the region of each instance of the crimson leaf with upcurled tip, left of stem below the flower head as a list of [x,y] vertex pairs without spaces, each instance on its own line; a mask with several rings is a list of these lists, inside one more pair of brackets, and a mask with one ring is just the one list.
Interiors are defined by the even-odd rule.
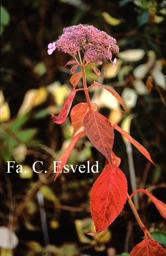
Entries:
[[66,117],[70,111],[70,107],[73,102],[76,91],[77,90],[74,90],[69,94],[69,96],[66,99],[66,101],[64,102],[64,105],[63,105],[62,109],[60,110],[60,113],[58,116],[56,116],[54,114],[51,115],[54,120],[54,123],[61,124],[66,120]]

